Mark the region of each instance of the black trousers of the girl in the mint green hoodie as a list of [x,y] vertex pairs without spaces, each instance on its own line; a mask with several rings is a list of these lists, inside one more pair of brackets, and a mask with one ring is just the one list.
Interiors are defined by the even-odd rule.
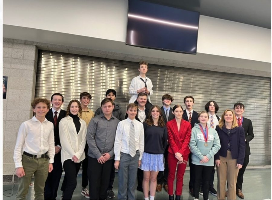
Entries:
[[202,180],[203,199],[209,198],[209,179],[213,166],[195,165],[194,168],[194,198],[199,198],[199,184]]

